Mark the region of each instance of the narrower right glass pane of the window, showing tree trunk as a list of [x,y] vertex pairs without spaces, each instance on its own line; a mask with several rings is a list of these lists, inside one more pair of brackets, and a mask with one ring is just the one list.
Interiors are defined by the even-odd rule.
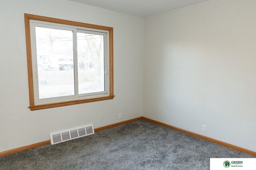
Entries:
[[104,92],[104,35],[77,33],[78,93]]

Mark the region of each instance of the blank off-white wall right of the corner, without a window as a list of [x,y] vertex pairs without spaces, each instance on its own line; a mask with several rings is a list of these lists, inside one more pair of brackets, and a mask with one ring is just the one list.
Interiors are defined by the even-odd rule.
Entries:
[[256,1],[146,18],[143,79],[143,116],[256,151]]

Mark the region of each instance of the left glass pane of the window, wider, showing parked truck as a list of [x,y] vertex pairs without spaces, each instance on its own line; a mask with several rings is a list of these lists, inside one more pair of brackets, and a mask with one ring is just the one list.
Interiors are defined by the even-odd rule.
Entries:
[[36,53],[39,99],[74,95],[73,31],[36,27]]

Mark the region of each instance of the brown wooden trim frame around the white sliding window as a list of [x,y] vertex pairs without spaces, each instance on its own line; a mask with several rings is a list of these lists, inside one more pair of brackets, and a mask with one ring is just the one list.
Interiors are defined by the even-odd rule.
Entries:
[[[24,14],[25,18],[25,32],[26,32],[26,50],[27,50],[27,63],[28,63],[28,87],[29,87],[29,100],[30,100],[30,110],[47,109],[52,107],[68,106],[73,104],[82,104],[88,102],[96,102],[102,100],[110,100],[114,98],[114,81],[113,81],[113,28],[101,25],[93,25],[89,23],[82,23],[76,21],[62,20],[57,18],[50,18],[44,16],[37,16],[32,14]],[[32,53],[31,53],[31,37],[30,37],[30,20],[46,21],[52,23],[60,23],[65,25],[73,25],[78,27],[86,27],[91,29],[101,29],[109,31],[109,96],[89,98],[81,100],[71,100],[67,102],[57,102],[50,104],[40,104],[35,105],[34,102],[34,84],[33,84],[33,72],[32,72]]]

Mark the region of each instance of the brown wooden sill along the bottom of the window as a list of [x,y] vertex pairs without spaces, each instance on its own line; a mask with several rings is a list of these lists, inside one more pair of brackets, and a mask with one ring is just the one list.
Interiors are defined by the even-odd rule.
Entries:
[[69,106],[73,104],[82,104],[82,103],[89,103],[89,102],[96,102],[101,100],[110,100],[114,99],[114,96],[106,96],[102,98],[92,98],[92,99],[84,99],[84,100],[72,100],[68,102],[58,102],[58,103],[51,103],[51,104],[42,104],[42,105],[36,105],[36,106],[29,106],[31,111],[33,110],[40,110],[40,109],[48,109],[53,107],[61,107],[61,106]]

